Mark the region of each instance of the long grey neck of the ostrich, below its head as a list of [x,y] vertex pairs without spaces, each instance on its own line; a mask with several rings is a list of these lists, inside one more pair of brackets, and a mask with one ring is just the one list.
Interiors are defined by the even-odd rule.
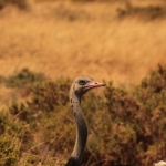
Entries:
[[71,157],[74,157],[80,162],[86,144],[87,125],[81,108],[81,97],[72,92],[70,93],[70,102],[76,123],[76,141]]

